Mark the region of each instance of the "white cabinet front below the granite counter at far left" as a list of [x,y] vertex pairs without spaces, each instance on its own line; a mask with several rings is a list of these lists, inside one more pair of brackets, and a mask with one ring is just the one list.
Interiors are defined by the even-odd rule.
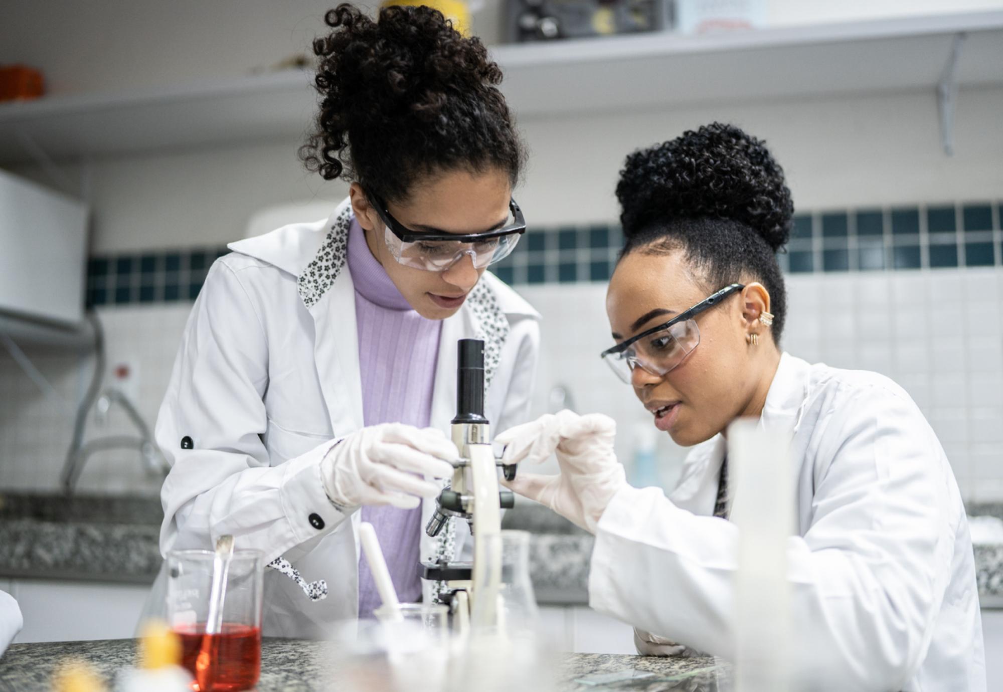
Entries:
[[149,587],[18,579],[9,593],[24,616],[14,642],[26,644],[132,637]]

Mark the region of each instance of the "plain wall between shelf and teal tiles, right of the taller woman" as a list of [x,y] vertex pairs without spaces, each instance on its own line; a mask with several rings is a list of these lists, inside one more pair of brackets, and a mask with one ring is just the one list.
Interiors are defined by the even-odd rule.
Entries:
[[1001,108],[1003,88],[962,92],[954,156],[941,148],[932,92],[526,120],[520,204],[541,225],[615,219],[628,152],[715,119],[766,139],[798,209],[985,199],[1003,190]]

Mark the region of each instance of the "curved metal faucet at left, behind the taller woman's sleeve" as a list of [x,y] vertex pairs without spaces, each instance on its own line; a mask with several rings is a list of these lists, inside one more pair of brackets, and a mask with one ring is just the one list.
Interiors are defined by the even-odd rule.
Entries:
[[[156,443],[153,441],[153,436],[150,434],[149,426],[146,425],[142,416],[139,415],[139,411],[136,409],[135,405],[121,390],[108,388],[101,393],[101,396],[94,404],[98,422],[103,423],[107,420],[108,410],[114,404],[118,404],[125,409],[125,413],[128,415],[129,420],[139,433],[138,436],[108,435],[92,439],[84,444],[83,433],[86,426],[85,424],[78,424],[74,429],[73,441],[66,454],[66,462],[63,464],[63,470],[60,474],[60,482],[66,494],[71,494],[73,492],[73,488],[76,486],[76,482],[80,478],[80,473],[83,472],[83,465],[95,451],[105,451],[108,449],[138,449],[147,474],[166,474],[169,470],[168,462],[160,453],[160,450],[157,448]],[[84,409],[84,413],[85,412],[86,409]]]

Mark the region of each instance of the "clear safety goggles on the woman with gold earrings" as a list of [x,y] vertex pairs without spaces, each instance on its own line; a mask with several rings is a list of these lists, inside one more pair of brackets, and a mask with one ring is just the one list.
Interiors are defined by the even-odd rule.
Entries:
[[662,377],[686,360],[686,356],[700,343],[700,329],[694,318],[743,288],[742,284],[726,286],[668,322],[646,329],[606,349],[600,356],[627,384],[631,383],[631,373],[636,367]]

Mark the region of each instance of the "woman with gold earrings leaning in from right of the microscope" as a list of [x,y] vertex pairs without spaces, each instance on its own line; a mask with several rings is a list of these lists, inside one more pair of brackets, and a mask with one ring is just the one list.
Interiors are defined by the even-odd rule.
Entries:
[[756,418],[792,440],[791,689],[985,690],[972,542],[933,429],[887,377],[780,349],[775,254],[793,206],[763,142],[718,123],[688,131],[628,156],[617,196],[626,245],[603,357],[655,427],[696,445],[679,483],[668,497],[628,485],[602,415],[495,438],[509,461],[557,452],[559,475],[521,471],[510,486],[596,535],[591,605],[634,625],[642,653],[734,655],[724,436]]

